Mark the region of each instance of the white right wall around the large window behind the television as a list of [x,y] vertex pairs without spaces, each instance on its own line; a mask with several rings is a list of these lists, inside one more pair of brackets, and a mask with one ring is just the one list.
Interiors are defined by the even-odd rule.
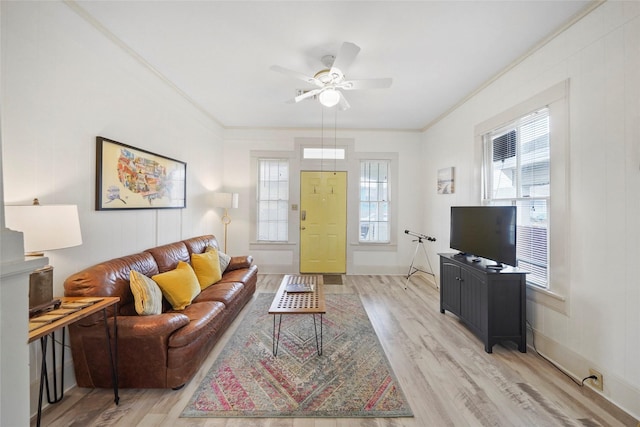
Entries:
[[[600,370],[604,395],[638,417],[639,2],[604,3],[425,132],[427,175],[455,166],[456,193],[427,192],[424,224],[447,229],[451,205],[479,203],[474,127],[565,79],[568,295],[564,310],[529,300],[527,317],[541,352],[580,379],[589,367]],[[447,243],[439,241],[434,252]]]

